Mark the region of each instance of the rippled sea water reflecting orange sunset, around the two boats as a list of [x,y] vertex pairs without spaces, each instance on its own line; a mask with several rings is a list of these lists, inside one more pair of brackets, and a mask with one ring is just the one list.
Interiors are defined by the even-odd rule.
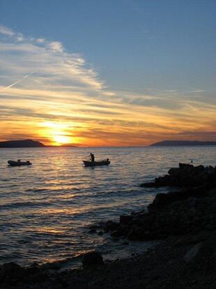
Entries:
[[[111,165],[84,168],[90,151]],[[17,158],[33,165],[8,167]],[[0,262],[71,267],[91,249],[107,258],[143,249],[146,244],[123,246],[109,235],[90,235],[88,225],[143,209],[159,190],[139,184],[190,159],[215,166],[216,147],[0,149]]]

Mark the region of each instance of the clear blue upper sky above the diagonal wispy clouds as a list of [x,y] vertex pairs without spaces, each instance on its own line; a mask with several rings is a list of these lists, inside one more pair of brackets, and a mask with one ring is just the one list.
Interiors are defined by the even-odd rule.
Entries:
[[6,27],[83,54],[114,89],[215,87],[215,0],[1,0],[0,5]]

